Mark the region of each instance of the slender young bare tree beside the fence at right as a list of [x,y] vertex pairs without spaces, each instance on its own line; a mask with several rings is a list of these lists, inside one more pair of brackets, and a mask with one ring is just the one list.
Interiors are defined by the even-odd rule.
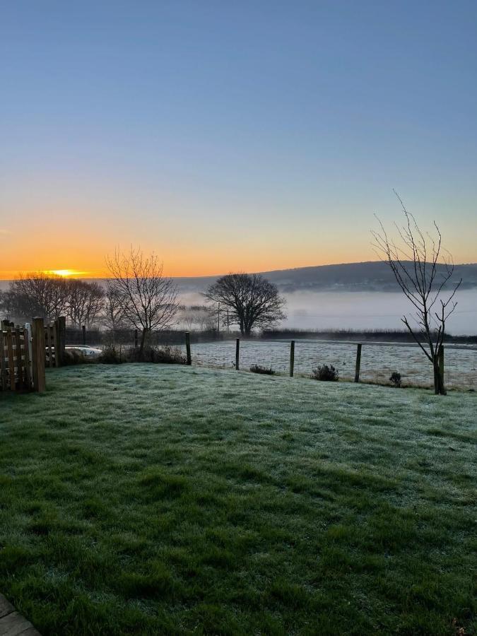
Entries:
[[442,236],[437,224],[434,222],[435,237],[428,232],[424,234],[414,216],[406,210],[399,194],[395,191],[394,194],[399,199],[405,218],[404,225],[394,224],[399,238],[394,240],[389,237],[378,219],[380,231],[372,230],[375,239],[373,245],[379,256],[389,263],[399,287],[414,307],[418,328],[413,328],[406,316],[402,322],[432,365],[435,394],[444,395],[446,390],[439,364],[440,353],[446,321],[457,306],[454,296],[462,279],[451,282],[454,261],[452,255],[442,247]]

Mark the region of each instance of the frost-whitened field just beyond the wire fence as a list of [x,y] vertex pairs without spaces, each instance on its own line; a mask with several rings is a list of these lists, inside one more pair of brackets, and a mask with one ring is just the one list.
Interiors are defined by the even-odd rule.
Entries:
[[[192,354],[204,366],[232,368],[235,363],[235,341],[194,343]],[[355,375],[356,345],[346,341],[300,339],[295,342],[295,372],[310,375],[321,364],[332,364],[342,379]],[[242,341],[240,366],[249,369],[259,364],[278,373],[289,370],[290,341]],[[407,386],[430,387],[432,367],[420,348],[413,343],[365,342],[361,357],[363,382],[389,382],[393,371],[401,373]],[[445,346],[445,383],[449,388],[477,390],[477,346]]]

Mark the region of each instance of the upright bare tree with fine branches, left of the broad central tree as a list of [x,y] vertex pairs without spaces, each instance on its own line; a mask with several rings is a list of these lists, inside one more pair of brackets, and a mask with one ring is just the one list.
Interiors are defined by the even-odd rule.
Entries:
[[163,264],[154,253],[146,257],[141,249],[114,251],[106,259],[111,278],[110,290],[123,303],[124,319],[141,330],[139,355],[143,355],[146,338],[151,331],[167,329],[177,312],[177,288],[163,276]]

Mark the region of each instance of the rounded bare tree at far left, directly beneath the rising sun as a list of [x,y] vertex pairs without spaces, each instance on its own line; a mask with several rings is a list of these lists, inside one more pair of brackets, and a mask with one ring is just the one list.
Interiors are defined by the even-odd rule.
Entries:
[[10,283],[4,296],[8,312],[16,317],[40,316],[54,319],[67,307],[67,281],[53,273],[33,271]]

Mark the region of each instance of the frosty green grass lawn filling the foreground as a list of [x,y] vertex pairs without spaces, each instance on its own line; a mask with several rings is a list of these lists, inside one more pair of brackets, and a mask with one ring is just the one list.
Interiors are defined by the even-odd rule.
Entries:
[[0,591],[43,634],[476,633],[475,394],[163,365],[47,387],[0,396]]

